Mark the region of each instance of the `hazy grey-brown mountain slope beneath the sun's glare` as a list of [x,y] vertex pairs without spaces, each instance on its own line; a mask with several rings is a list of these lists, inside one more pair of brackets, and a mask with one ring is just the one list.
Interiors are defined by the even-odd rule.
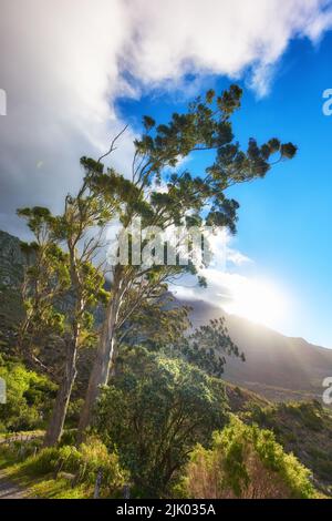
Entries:
[[245,318],[228,315],[204,300],[183,300],[193,308],[194,326],[224,316],[246,361],[227,359],[225,379],[268,399],[321,399],[325,377],[332,376],[332,349],[291,338]]

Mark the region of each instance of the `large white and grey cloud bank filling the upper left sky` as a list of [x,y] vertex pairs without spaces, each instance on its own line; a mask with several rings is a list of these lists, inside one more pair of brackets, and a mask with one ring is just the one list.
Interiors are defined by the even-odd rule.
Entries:
[[[19,205],[59,210],[79,182],[77,159],[106,150],[122,127],[117,96],[179,89],[186,72],[245,74],[264,94],[289,41],[315,42],[331,27],[330,3],[1,0],[0,227],[15,231],[8,216]],[[124,171],[131,137],[114,156]]]

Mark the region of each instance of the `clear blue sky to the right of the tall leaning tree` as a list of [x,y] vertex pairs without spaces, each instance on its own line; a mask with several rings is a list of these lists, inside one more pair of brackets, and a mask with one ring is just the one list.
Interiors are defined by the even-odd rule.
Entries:
[[[232,188],[241,205],[234,244],[253,263],[249,276],[272,280],[287,293],[291,305],[276,328],[292,336],[332,347],[332,118],[322,113],[322,93],[332,86],[332,33],[317,45],[291,42],[276,67],[270,91],[263,98],[246,88],[242,109],[235,116],[241,143],[278,136],[299,146],[292,162],[278,165],[262,182]],[[190,81],[197,79],[187,79]],[[203,81],[217,91],[229,84],[225,76]],[[183,110],[180,92],[155,90],[139,100],[122,99],[117,111],[139,125],[143,114],[165,121]],[[199,164],[190,162],[199,171]]]

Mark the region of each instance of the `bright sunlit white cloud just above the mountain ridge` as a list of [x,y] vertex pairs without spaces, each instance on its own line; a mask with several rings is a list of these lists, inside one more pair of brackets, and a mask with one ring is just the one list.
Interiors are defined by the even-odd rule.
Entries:
[[280,284],[257,277],[258,269],[253,260],[234,247],[234,237],[226,231],[221,229],[211,238],[212,262],[208,267],[199,269],[199,275],[207,280],[207,287],[199,287],[197,279],[187,275],[172,287],[176,297],[204,300],[228,314],[282,330],[290,308],[286,289]]

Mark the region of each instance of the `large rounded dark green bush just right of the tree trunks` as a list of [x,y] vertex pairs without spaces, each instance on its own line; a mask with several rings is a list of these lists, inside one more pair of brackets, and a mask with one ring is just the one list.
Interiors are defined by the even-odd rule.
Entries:
[[104,389],[97,431],[143,496],[167,492],[196,442],[226,421],[225,388],[189,364],[136,348]]

